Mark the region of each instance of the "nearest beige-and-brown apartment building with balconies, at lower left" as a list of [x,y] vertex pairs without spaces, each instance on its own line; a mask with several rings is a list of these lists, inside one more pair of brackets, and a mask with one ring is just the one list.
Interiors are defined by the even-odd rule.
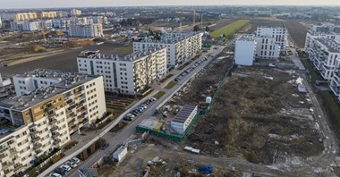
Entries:
[[13,78],[0,101],[0,176],[24,172],[106,115],[103,77],[38,69]]

